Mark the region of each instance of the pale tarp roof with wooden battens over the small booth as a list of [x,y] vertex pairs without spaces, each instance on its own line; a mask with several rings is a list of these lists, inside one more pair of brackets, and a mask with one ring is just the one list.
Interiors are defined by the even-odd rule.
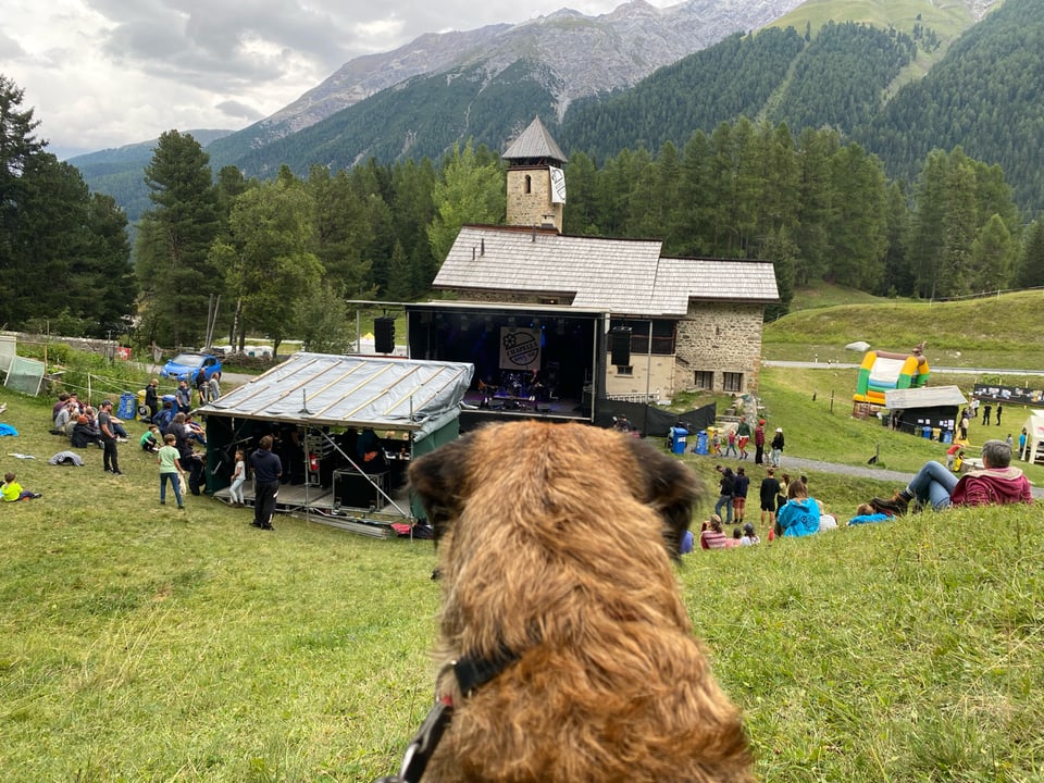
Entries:
[[463,362],[300,352],[199,413],[408,431],[417,440],[457,418],[473,374]]

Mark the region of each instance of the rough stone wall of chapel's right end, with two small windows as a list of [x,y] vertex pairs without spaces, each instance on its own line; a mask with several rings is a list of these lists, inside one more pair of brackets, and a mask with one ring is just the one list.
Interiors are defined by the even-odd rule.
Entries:
[[678,322],[674,390],[696,389],[696,372],[713,374],[711,391],[724,390],[724,373],[742,373],[737,393],[754,393],[761,370],[761,304],[691,302]]

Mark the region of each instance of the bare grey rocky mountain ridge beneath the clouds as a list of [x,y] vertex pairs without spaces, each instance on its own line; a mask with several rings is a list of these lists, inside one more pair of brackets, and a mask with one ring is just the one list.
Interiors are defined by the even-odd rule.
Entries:
[[[630,87],[655,70],[736,32],[756,29],[801,0],[687,0],[658,9],[630,0],[599,16],[563,8],[515,25],[426,34],[383,54],[345,63],[330,78],[247,132],[263,145],[415,76],[482,64],[489,77],[529,59],[559,85],[561,116],[577,98]],[[582,24],[579,24],[582,23]]]

